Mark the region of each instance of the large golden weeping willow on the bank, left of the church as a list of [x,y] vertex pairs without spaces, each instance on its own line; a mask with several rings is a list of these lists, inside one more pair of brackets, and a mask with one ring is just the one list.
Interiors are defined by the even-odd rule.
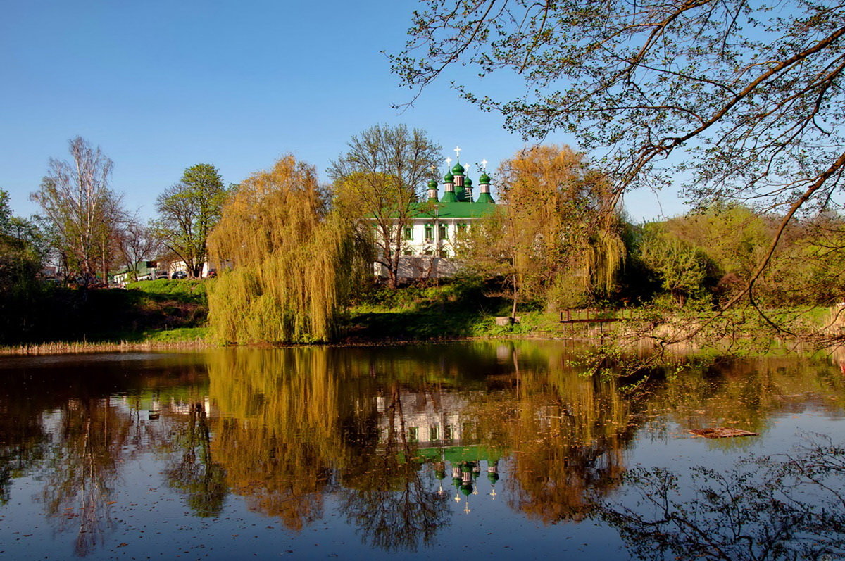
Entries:
[[329,340],[357,272],[354,228],[326,208],[313,166],[292,155],[242,182],[209,239],[221,342]]

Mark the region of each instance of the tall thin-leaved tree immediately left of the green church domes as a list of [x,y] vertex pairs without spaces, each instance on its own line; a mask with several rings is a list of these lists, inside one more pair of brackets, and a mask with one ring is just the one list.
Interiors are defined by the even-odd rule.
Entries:
[[364,229],[374,226],[375,259],[395,287],[402,231],[430,210],[419,201],[440,146],[419,128],[376,125],[353,136],[348,147],[328,170],[335,181],[335,206]]

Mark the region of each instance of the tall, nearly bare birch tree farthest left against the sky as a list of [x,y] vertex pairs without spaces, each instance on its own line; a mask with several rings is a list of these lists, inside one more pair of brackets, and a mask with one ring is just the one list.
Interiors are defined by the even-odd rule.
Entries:
[[106,279],[117,258],[121,197],[109,188],[112,161],[81,137],[68,142],[71,161],[49,161],[41,188],[30,198],[41,205],[52,245],[70,275],[86,283]]

